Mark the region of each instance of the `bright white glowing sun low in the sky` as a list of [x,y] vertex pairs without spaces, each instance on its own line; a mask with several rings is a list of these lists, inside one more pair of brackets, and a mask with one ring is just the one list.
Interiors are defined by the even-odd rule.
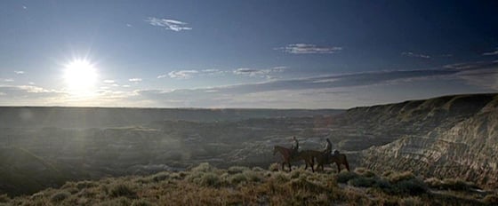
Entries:
[[97,77],[97,69],[86,59],[73,59],[64,68],[64,81],[72,95],[91,96],[94,94]]

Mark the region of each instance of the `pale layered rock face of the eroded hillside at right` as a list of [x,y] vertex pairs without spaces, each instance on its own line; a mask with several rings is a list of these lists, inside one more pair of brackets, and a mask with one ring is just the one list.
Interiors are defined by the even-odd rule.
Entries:
[[[463,178],[480,186],[498,186],[498,95],[415,102],[418,107],[410,111],[406,106],[414,102],[384,106],[405,105],[386,122],[398,120],[395,124],[402,125],[402,130],[413,132],[366,149],[361,164],[379,171],[414,170],[428,177]],[[378,125],[382,128],[382,123]]]

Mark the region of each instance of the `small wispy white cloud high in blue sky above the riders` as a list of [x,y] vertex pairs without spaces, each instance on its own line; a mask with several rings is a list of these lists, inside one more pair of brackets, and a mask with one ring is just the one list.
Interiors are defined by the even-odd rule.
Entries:
[[318,46],[315,44],[288,44],[284,47],[277,47],[275,50],[280,50],[286,53],[293,54],[310,54],[310,53],[336,53],[341,52],[340,46]]

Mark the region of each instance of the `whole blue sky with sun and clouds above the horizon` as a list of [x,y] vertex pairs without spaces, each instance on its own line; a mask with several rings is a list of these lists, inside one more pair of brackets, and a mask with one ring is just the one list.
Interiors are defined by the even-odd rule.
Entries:
[[496,1],[0,1],[0,106],[350,108],[498,91]]

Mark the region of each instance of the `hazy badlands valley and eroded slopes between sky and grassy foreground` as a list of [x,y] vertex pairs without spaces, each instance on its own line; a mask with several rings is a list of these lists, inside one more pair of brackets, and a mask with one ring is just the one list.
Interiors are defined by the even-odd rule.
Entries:
[[201,162],[268,168],[279,161],[272,147],[291,147],[293,136],[301,150],[331,139],[352,168],[412,170],[491,189],[497,102],[496,94],[472,94],[348,110],[1,107],[0,189],[30,194]]

